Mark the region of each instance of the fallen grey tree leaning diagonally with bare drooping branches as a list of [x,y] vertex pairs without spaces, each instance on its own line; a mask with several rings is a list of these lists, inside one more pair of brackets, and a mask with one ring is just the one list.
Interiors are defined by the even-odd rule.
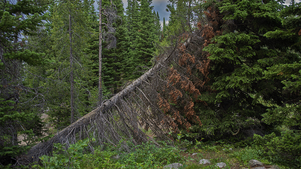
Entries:
[[[191,42],[188,38],[184,44],[186,48]],[[167,74],[168,60],[177,55],[178,47],[165,54],[164,58],[132,82],[122,91],[104,100],[101,106],[79,118],[46,142],[40,142],[27,152],[25,157],[29,161],[39,159],[41,155],[47,155],[53,148],[53,143],[66,143],[70,145],[77,139],[94,137],[98,145],[104,143],[117,144],[122,140],[131,140],[134,143],[152,140],[147,137],[145,131],[151,130],[154,135],[162,140],[169,139],[169,132],[173,119],[157,105],[157,86],[160,79]],[[143,131],[144,129],[144,131]],[[124,143],[123,148],[129,149]],[[92,146],[91,146],[91,149]]]

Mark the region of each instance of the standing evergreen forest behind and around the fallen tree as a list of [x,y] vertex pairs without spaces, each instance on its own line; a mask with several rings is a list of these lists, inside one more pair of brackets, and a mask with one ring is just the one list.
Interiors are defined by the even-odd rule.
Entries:
[[101,104],[99,84],[109,99],[175,49],[154,98],[171,128],[206,140],[256,129],[266,153],[300,164],[300,3],[172,0],[162,27],[151,3],[102,1],[100,83],[94,1],[0,2],[1,159]]

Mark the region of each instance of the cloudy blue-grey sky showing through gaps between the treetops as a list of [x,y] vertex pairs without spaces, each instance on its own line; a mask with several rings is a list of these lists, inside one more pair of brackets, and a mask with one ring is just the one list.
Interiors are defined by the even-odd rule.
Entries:
[[[124,10],[126,10],[126,6],[128,5],[127,0],[122,0],[123,1],[123,7]],[[285,5],[290,5],[291,0],[286,0]],[[296,0],[296,2],[300,2],[300,0]],[[169,14],[170,12],[166,11],[166,5],[169,4],[168,0],[153,0],[153,3],[151,4],[152,6],[154,6],[154,10],[158,11],[159,16],[160,16],[160,22],[161,25],[163,24],[163,17],[165,17],[165,22],[166,24],[168,23],[169,20]],[[97,2],[95,0],[94,2],[95,8],[97,8]]]

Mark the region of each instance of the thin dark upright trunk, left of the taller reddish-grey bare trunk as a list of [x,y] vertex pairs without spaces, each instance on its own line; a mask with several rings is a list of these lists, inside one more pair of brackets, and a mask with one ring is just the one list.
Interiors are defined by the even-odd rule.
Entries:
[[71,32],[71,9],[69,9],[69,40],[70,40],[70,107],[71,123],[74,122],[74,79],[73,79],[73,55],[72,55],[72,32]]

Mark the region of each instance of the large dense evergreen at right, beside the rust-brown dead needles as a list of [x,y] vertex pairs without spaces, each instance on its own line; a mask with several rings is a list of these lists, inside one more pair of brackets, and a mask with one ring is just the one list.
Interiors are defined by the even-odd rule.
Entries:
[[300,78],[300,23],[298,14],[285,11],[300,7],[284,8],[273,0],[211,5],[207,16],[215,22],[199,29],[206,31],[205,39],[213,37],[204,43],[211,67],[205,85],[212,91],[200,94],[206,105],[198,104],[203,126],[197,130],[205,134],[215,124],[210,133],[219,137],[253,125],[266,131],[278,124],[299,130],[301,98],[294,93],[300,92],[295,88]]

